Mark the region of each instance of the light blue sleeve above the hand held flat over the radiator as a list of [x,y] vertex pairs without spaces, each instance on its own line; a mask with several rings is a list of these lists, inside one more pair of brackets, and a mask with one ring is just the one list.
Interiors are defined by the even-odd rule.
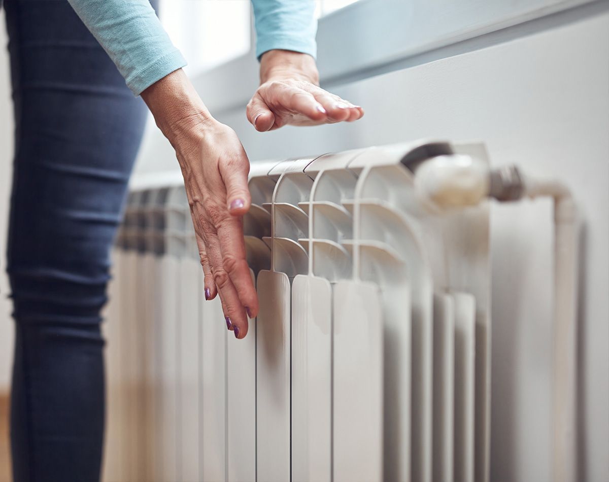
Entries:
[[252,0],[256,24],[256,57],[272,49],[317,55],[315,2]]

